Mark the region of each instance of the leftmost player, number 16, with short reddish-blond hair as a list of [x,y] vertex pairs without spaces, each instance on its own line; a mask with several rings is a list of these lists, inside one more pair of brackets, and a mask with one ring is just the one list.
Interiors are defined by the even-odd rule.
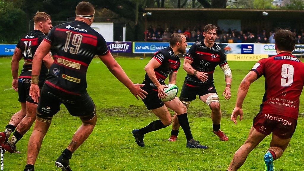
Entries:
[[[24,35],[16,45],[12,57],[12,88],[18,92],[18,101],[21,104],[21,110],[15,113],[5,131],[0,132],[1,148],[11,153],[19,153],[16,150],[16,143],[29,130],[36,118],[37,104],[29,96],[29,87],[31,83],[32,61],[37,47],[44,39],[45,35],[51,30],[51,17],[45,12],[37,12],[34,17],[34,30]],[[19,61],[23,58],[23,68],[18,77]],[[53,58],[47,54],[41,63],[39,77],[39,88],[42,89],[44,80],[47,76],[47,68],[53,63]],[[15,130],[13,136],[8,140],[10,134]],[[6,142],[7,141],[7,142]]]

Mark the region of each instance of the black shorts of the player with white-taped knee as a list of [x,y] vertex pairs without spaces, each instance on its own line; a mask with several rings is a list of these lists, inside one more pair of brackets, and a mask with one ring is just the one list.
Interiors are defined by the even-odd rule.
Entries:
[[213,83],[196,86],[184,83],[181,88],[181,94],[179,99],[184,102],[189,102],[196,99],[196,95],[204,96],[208,93],[216,93],[216,89]]

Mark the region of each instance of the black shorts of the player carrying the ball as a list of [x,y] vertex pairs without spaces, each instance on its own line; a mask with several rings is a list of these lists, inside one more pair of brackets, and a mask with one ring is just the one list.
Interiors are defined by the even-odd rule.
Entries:
[[146,98],[142,99],[148,110],[157,109],[165,105],[165,103],[158,98],[157,89],[155,90],[147,87],[141,87],[141,89],[148,93]]

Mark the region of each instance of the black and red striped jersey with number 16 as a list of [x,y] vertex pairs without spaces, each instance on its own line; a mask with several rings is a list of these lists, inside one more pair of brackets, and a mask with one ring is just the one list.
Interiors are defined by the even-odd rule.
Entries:
[[[32,78],[32,64],[33,56],[37,50],[37,47],[40,45],[45,35],[40,30],[33,30],[26,35],[24,35],[17,43],[16,48],[21,50],[23,56],[23,67],[19,78]],[[44,63],[41,63],[40,77],[39,80],[44,82],[44,79],[47,76],[47,67]]]

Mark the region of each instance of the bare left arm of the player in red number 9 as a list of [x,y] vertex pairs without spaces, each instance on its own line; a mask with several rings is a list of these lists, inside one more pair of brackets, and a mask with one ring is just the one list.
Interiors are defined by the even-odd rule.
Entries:
[[254,71],[250,71],[242,80],[240,83],[239,89],[237,90],[237,102],[235,104],[235,108],[233,109],[233,112],[231,113],[231,118],[234,122],[234,124],[237,124],[237,117],[240,116],[240,120],[243,119],[243,102],[247,95],[249,86],[251,83],[253,83],[255,80],[257,80],[257,74]]

